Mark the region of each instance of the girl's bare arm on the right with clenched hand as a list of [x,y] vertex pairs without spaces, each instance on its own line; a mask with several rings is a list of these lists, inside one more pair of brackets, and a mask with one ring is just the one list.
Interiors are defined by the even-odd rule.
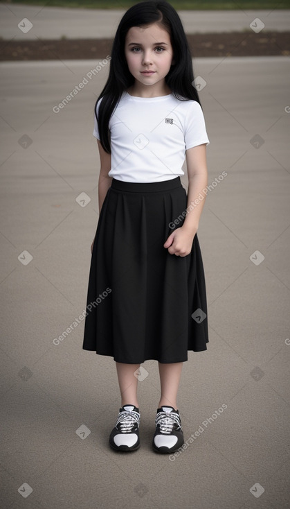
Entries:
[[[181,257],[190,254],[206,198],[204,195],[203,200],[198,198],[208,184],[206,144],[186,150],[186,164],[188,167],[188,206],[185,211],[186,216],[183,225],[180,228],[176,228],[164,244],[164,248],[168,248],[170,255]],[[194,203],[194,200],[197,201]]]

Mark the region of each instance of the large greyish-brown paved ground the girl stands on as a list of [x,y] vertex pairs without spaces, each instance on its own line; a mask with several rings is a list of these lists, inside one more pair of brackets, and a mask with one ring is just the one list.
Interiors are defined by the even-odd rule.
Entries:
[[184,363],[190,440],[170,457],[151,450],[156,362],[139,382],[141,449],[120,456],[114,361],[82,350],[80,319],[55,340],[86,304],[107,69],[54,113],[91,61],[0,67],[2,507],[288,508],[289,59],[194,62],[215,183],[199,227],[210,343]]

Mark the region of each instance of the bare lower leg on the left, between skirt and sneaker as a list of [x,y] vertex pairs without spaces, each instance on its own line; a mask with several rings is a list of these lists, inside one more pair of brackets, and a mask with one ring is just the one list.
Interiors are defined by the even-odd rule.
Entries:
[[134,375],[134,371],[138,370],[138,368],[140,368],[140,364],[116,362],[121,406],[134,405],[139,408],[137,399],[138,378]]

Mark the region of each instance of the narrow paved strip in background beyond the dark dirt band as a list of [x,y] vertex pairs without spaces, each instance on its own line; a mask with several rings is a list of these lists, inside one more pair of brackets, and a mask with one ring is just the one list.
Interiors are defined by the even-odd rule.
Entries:
[[[113,37],[123,12],[0,4],[0,34],[8,40]],[[183,10],[180,16],[186,33],[249,30],[255,18],[261,19],[265,30],[288,31],[290,26],[290,10]],[[18,28],[24,18],[33,24],[27,33]]]

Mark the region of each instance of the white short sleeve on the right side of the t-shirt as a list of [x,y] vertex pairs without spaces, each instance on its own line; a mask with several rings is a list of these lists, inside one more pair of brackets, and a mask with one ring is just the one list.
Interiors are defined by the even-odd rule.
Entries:
[[190,101],[185,120],[185,149],[206,143],[210,144],[201,105]]

